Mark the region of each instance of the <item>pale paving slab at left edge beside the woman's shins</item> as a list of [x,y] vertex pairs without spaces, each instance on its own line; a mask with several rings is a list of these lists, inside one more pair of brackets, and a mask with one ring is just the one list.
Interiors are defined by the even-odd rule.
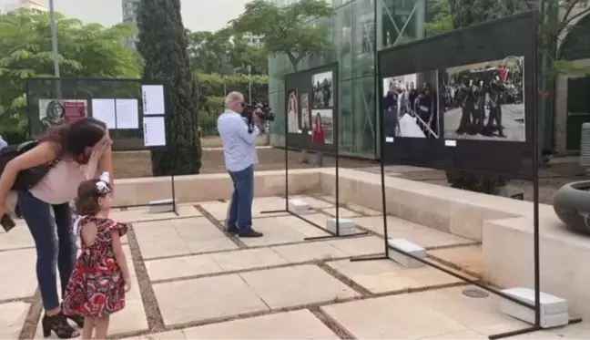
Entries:
[[2,278],[0,301],[35,295],[37,287],[35,249],[0,252],[0,263],[0,278]]

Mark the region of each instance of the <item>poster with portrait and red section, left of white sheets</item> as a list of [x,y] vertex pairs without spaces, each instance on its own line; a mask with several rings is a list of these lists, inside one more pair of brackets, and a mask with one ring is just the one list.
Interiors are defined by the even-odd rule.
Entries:
[[86,116],[85,99],[39,99],[39,120],[42,129],[64,122],[73,123]]

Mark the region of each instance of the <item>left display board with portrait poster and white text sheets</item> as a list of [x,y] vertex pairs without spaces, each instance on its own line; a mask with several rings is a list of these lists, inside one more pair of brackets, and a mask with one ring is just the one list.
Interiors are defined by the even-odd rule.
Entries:
[[[92,117],[107,124],[113,149],[166,146],[166,85],[141,79],[28,78],[27,108],[32,136],[61,123]],[[57,99],[57,90],[61,99]]]

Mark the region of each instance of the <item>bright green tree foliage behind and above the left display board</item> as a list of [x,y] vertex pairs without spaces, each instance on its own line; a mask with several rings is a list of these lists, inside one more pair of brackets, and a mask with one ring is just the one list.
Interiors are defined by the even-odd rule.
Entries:
[[[137,53],[121,44],[125,25],[83,25],[56,14],[62,77],[138,77]],[[53,77],[51,26],[47,13],[26,9],[0,15],[0,134],[27,135],[25,79]]]

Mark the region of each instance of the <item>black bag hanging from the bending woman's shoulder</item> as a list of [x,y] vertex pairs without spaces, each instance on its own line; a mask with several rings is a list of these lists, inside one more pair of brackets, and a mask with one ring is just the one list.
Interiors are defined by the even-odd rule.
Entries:
[[[0,173],[4,172],[6,164],[14,160],[16,157],[24,154],[30,149],[34,149],[39,144],[36,140],[25,141],[18,145],[9,145],[0,149]],[[36,184],[46,177],[47,172],[56,166],[59,158],[52,160],[47,164],[41,164],[34,168],[21,170],[16,176],[15,184],[11,188],[13,191],[29,190],[36,186]]]

